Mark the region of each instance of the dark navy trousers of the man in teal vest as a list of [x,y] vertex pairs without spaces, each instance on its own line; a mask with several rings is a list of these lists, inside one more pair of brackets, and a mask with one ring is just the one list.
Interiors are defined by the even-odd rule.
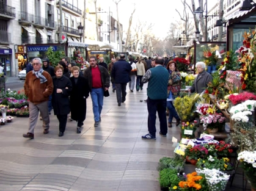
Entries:
[[148,132],[152,136],[156,136],[156,112],[160,122],[161,133],[167,134],[167,120],[166,120],[166,99],[147,99],[148,107]]

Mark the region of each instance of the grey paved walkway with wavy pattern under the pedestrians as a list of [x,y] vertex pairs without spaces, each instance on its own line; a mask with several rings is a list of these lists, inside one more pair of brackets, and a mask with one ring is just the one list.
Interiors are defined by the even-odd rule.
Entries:
[[[110,88],[97,128],[89,96],[81,134],[76,134],[76,122],[68,121],[64,136],[58,137],[53,112],[49,134],[43,134],[38,119],[31,140],[22,137],[28,118],[14,117],[0,126],[0,191],[159,191],[158,161],[173,156],[172,136],[179,138],[180,130],[173,123],[167,137],[161,137],[157,122],[156,140],[141,139],[148,132],[147,103],[140,102],[147,98],[146,86],[133,93],[127,86],[120,107]],[[236,176],[233,185],[240,183],[241,176]]]

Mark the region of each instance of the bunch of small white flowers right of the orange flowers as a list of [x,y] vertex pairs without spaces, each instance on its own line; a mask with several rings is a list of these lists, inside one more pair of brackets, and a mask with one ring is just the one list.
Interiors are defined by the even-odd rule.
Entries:
[[204,175],[207,181],[207,186],[209,191],[224,191],[227,186],[227,181],[229,181],[230,175],[223,173],[217,169],[208,169],[196,168],[197,173],[199,175]]

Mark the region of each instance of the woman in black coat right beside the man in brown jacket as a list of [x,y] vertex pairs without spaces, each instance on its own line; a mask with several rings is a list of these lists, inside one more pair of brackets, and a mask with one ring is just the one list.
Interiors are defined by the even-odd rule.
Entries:
[[56,76],[53,77],[53,111],[59,120],[59,137],[64,135],[67,125],[67,117],[70,112],[70,102],[68,96],[72,90],[72,84],[68,77],[63,75],[64,68],[57,65],[54,68]]

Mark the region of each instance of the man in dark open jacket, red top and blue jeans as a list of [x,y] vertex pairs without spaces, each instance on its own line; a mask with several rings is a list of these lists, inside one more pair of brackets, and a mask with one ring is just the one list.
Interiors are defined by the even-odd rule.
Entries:
[[101,110],[103,106],[104,91],[107,91],[110,85],[110,76],[106,68],[97,65],[97,58],[90,56],[90,67],[84,70],[84,77],[88,80],[90,97],[92,98],[92,110],[94,115],[94,126],[99,125],[101,121]]

